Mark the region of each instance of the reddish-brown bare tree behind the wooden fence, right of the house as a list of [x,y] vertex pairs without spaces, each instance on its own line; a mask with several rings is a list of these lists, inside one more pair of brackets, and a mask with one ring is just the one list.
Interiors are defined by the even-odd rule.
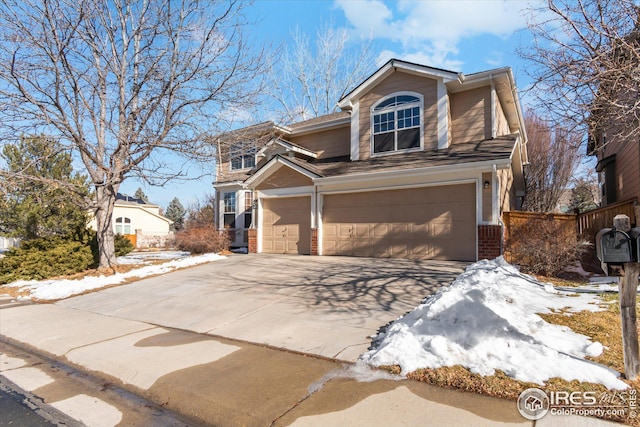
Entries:
[[557,125],[552,127],[532,112],[527,112],[524,123],[530,164],[525,170],[527,196],[523,209],[553,212],[579,163],[580,136]]

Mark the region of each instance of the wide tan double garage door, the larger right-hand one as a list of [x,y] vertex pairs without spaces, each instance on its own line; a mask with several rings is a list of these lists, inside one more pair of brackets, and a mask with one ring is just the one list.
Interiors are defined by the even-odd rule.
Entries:
[[324,197],[322,253],[474,261],[475,184]]

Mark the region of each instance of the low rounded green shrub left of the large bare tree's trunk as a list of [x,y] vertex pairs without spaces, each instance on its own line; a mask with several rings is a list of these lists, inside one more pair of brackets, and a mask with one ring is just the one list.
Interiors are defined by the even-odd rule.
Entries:
[[94,265],[91,248],[85,242],[60,237],[34,239],[0,259],[0,284],[78,273]]

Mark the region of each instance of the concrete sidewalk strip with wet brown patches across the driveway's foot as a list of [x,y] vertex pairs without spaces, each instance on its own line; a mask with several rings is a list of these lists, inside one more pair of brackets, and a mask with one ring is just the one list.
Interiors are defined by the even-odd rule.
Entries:
[[[514,402],[406,380],[359,382],[386,375],[53,304],[0,308],[0,334],[209,425],[531,425]],[[0,362],[3,376],[46,394],[37,368],[9,359]]]

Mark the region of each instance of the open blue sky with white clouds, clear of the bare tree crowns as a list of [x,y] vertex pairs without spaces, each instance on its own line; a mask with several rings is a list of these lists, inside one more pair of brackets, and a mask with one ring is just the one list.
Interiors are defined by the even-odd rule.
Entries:
[[[530,43],[527,10],[543,4],[525,0],[255,0],[247,15],[256,24],[247,30],[257,41],[286,46],[296,26],[313,41],[320,26],[331,23],[349,30],[350,43],[371,38],[378,66],[390,58],[465,74],[510,66],[526,108],[524,91],[530,81],[516,49]],[[213,193],[213,179],[204,176],[164,188],[145,187],[129,179],[121,192],[133,195],[142,187],[152,203],[166,207],[178,197],[187,207]]]

